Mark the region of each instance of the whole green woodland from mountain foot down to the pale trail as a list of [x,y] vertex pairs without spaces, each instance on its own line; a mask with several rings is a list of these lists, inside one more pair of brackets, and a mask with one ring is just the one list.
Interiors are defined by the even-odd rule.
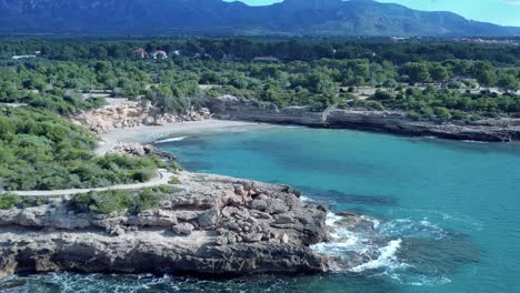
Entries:
[[[166,51],[167,59],[143,58]],[[14,55],[29,54],[27,58]],[[0,42],[0,178],[7,190],[146,181],[157,160],[96,156],[96,139],[61,117],[102,98],[166,112],[233,94],[321,111],[399,110],[411,119],[520,117],[520,47],[448,40],[31,40]],[[206,85],[206,87],[203,87]],[[363,92],[369,92],[364,94]]]

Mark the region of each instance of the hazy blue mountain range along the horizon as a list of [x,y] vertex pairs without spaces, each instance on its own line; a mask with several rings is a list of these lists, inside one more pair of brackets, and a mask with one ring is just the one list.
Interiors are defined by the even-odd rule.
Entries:
[[518,36],[519,28],[372,0],[0,0],[0,33]]

